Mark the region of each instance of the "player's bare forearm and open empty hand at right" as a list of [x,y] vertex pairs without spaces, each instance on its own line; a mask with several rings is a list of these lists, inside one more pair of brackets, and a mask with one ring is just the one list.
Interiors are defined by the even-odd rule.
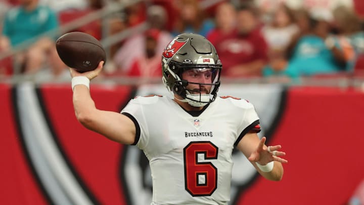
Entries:
[[[265,140],[265,137],[259,139],[256,133],[247,133],[240,140],[237,147],[249,159],[260,175],[268,180],[280,181],[283,177],[282,163],[288,162],[281,156],[286,155],[286,153],[279,151],[282,148],[281,145],[270,146],[269,152],[268,147],[264,144]],[[273,151],[276,151],[276,155],[273,155]],[[270,172],[262,172],[256,165],[257,162],[259,165],[264,166],[271,161],[274,161],[274,167]]]

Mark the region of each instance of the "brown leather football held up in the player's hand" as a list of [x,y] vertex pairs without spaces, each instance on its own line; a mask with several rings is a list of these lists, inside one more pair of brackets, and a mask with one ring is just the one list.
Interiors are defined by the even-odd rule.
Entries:
[[98,39],[83,32],[69,32],[57,39],[56,49],[61,60],[78,72],[94,70],[106,53]]

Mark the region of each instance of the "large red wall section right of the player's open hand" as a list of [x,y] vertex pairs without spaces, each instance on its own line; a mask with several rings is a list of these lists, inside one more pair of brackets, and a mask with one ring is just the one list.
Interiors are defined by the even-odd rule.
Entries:
[[239,204],[345,204],[364,179],[364,94],[294,88],[287,100],[272,139],[287,152],[283,180],[260,178]]

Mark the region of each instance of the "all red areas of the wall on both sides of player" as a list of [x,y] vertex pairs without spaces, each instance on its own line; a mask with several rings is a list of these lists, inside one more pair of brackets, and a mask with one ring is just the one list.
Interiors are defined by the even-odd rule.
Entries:
[[[14,88],[0,85],[0,203],[48,204],[52,199],[40,185],[24,146]],[[92,201],[128,204],[120,180],[124,146],[77,122],[69,85],[44,85],[37,92],[59,149]],[[97,107],[106,110],[120,111],[132,94],[129,87],[92,88]],[[270,182],[258,177],[235,204],[345,204],[364,178],[362,102],[364,94],[354,90],[289,89],[281,119],[269,141],[282,144],[287,152],[284,178]]]

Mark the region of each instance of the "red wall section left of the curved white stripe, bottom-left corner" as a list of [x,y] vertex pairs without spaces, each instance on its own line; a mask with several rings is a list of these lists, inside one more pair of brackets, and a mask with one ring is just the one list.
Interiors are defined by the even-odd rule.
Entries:
[[11,87],[0,85],[0,203],[47,204],[22,150],[12,105]]

